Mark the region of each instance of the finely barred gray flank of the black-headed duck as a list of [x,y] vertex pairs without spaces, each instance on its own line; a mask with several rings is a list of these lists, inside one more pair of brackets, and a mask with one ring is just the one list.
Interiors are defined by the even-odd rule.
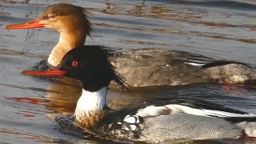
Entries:
[[171,114],[146,118],[141,140],[159,142],[170,139],[221,139],[241,136],[241,128],[222,118]]

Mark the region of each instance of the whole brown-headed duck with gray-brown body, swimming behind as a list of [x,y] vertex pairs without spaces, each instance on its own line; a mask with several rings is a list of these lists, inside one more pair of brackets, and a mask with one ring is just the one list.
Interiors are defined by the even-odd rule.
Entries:
[[[48,62],[58,66],[63,56],[75,46],[83,46],[91,26],[80,6],[49,6],[35,20],[5,26],[6,29],[50,28],[60,34]],[[126,83],[139,86],[175,86],[195,82],[255,82],[256,70],[242,62],[217,61],[199,54],[178,50],[140,49],[114,54],[111,64]]]

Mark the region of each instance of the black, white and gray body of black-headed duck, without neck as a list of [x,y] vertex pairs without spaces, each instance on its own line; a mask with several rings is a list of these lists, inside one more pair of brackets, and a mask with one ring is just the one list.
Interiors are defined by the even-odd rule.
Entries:
[[114,111],[102,119],[96,130],[110,138],[134,141],[171,139],[241,138],[243,130],[233,123],[254,119],[247,114],[211,102],[187,99],[158,99],[140,102]]

